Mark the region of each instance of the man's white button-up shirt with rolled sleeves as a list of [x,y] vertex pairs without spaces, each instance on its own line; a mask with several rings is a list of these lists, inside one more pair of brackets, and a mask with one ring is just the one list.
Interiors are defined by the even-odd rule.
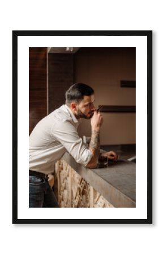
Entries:
[[87,166],[92,152],[77,133],[80,122],[67,105],[38,122],[29,136],[29,170],[51,174],[66,151],[77,163]]

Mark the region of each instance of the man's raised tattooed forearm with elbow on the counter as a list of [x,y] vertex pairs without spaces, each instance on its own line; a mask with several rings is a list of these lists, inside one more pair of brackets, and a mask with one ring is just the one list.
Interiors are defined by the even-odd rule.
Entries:
[[97,167],[98,158],[100,156],[100,131],[92,131],[89,150],[92,152],[92,159],[87,167],[95,168]]

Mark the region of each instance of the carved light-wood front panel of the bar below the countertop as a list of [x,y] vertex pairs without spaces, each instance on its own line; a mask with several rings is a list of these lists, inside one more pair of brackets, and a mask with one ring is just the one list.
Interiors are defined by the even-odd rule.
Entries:
[[114,207],[63,159],[55,164],[54,191],[59,207]]

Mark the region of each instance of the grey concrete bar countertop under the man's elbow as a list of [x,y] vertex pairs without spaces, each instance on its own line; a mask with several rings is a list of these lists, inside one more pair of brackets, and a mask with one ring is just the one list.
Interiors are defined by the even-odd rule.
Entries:
[[114,207],[136,207],[136,164],[125,159],[105,168],[85,168],[67,152],[63,159]]

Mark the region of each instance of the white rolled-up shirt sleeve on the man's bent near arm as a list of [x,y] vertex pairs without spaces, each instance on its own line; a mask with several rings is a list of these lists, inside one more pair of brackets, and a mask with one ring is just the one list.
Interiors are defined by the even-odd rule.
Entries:
[[76,127],[70,121],[63,121],[54,125],[51,136],[59,141],[73,156],[77,163],[87,166],[92,158],[92,152],[79,137]]

